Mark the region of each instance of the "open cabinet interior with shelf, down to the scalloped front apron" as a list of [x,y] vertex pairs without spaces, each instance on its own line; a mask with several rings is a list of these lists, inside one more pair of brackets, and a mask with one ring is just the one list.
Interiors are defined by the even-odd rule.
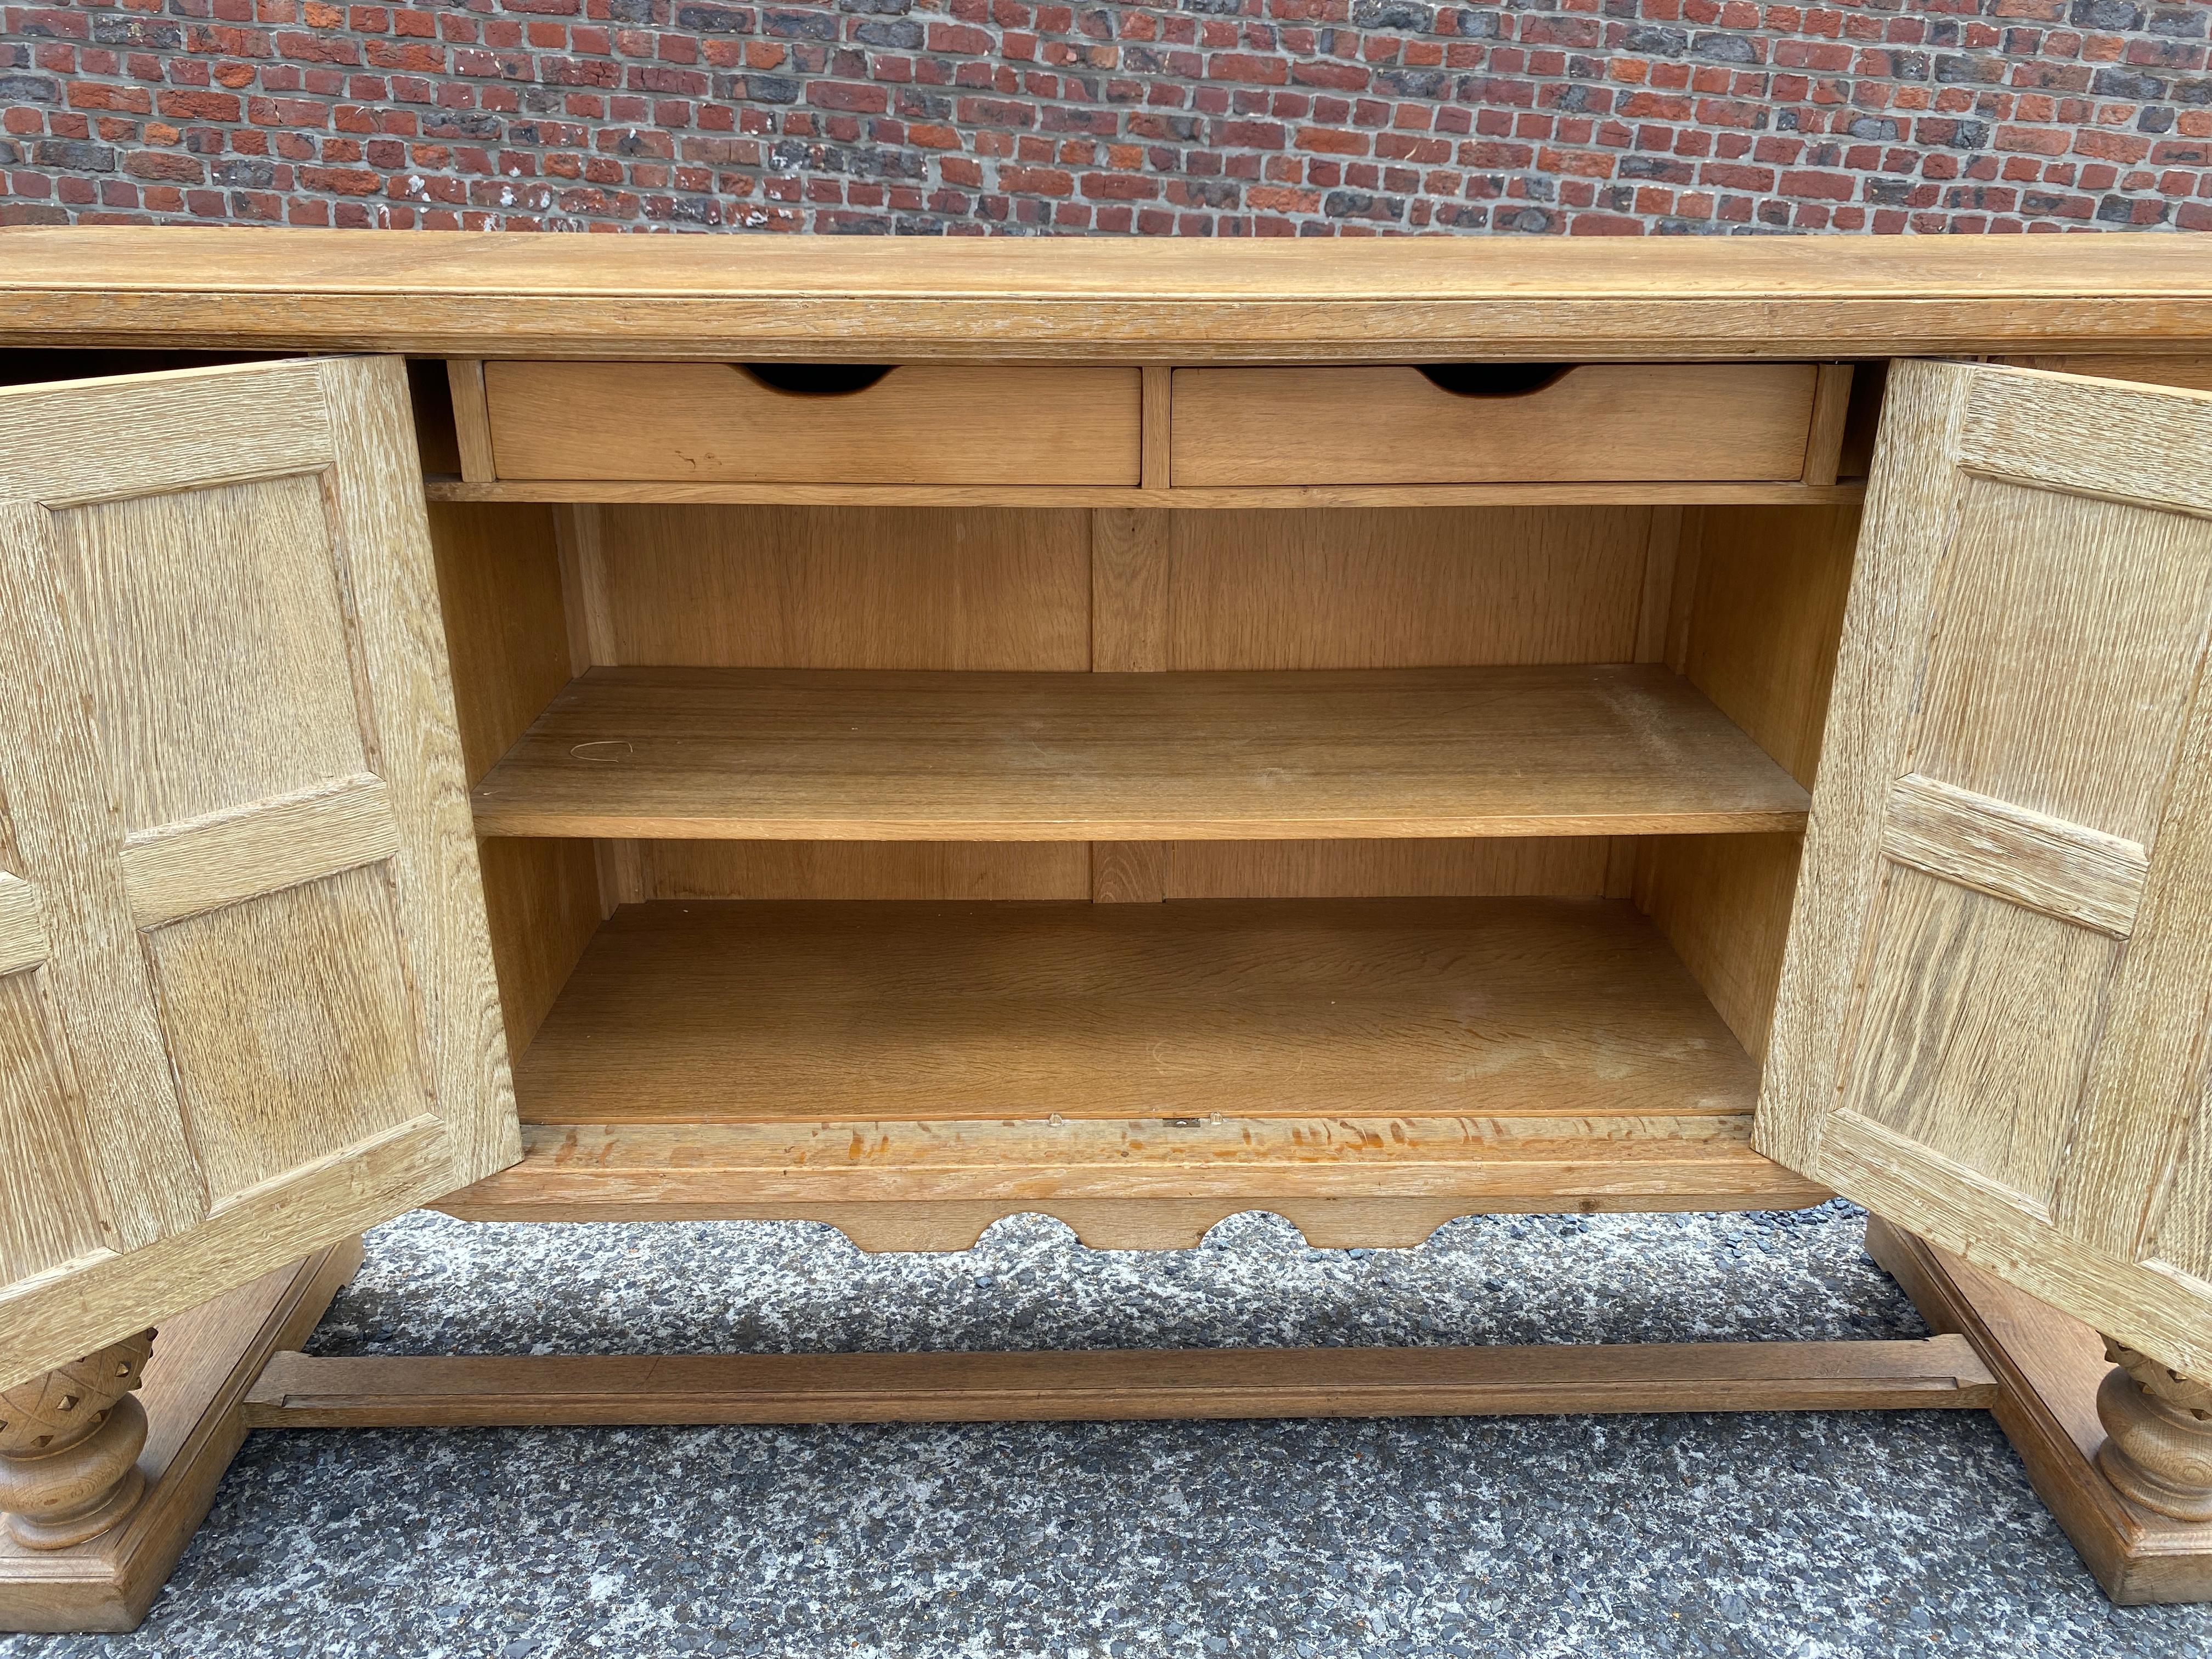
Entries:
[[1851,504],[429,513],[546,1177],[458,1214],[1825,1197],[1750,1119]]

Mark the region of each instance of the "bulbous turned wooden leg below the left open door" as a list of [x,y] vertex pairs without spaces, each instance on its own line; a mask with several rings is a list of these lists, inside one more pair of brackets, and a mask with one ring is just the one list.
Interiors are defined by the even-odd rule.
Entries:
[[35,1551],[100,1537],[137,1509],[146,1475],[146,1374],[153,1332],[0,1391],[0,1515]]

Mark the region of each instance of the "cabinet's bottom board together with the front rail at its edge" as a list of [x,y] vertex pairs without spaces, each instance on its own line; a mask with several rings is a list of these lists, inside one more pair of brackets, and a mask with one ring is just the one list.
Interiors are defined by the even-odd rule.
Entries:
[[442,1208],[874,1208],[900,1248],[933,1210],[958,1248],[1086,1203],[1181,1203],[1194,1239],[1250,1206],[1316,1237],[1298,1203],[1409,1201],[1420,1237],[1827,1197],[1752,1150],[1759,1068],[1601,898],[628,905],[515,1088],[524,1161]]

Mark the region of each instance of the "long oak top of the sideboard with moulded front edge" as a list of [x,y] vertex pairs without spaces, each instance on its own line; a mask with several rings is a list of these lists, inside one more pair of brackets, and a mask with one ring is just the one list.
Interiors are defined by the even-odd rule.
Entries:
[[650,358],[2212,349],[2212,237],[0,230],[0,345]]

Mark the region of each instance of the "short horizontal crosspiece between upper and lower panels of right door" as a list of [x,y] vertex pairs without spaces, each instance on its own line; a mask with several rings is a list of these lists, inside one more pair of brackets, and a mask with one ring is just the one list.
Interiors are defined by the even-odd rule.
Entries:
[[2141,843],[1993,801],[1918,772],[1898,779],[1882,852],[1913,869],[2128,938],[2150,860]]

